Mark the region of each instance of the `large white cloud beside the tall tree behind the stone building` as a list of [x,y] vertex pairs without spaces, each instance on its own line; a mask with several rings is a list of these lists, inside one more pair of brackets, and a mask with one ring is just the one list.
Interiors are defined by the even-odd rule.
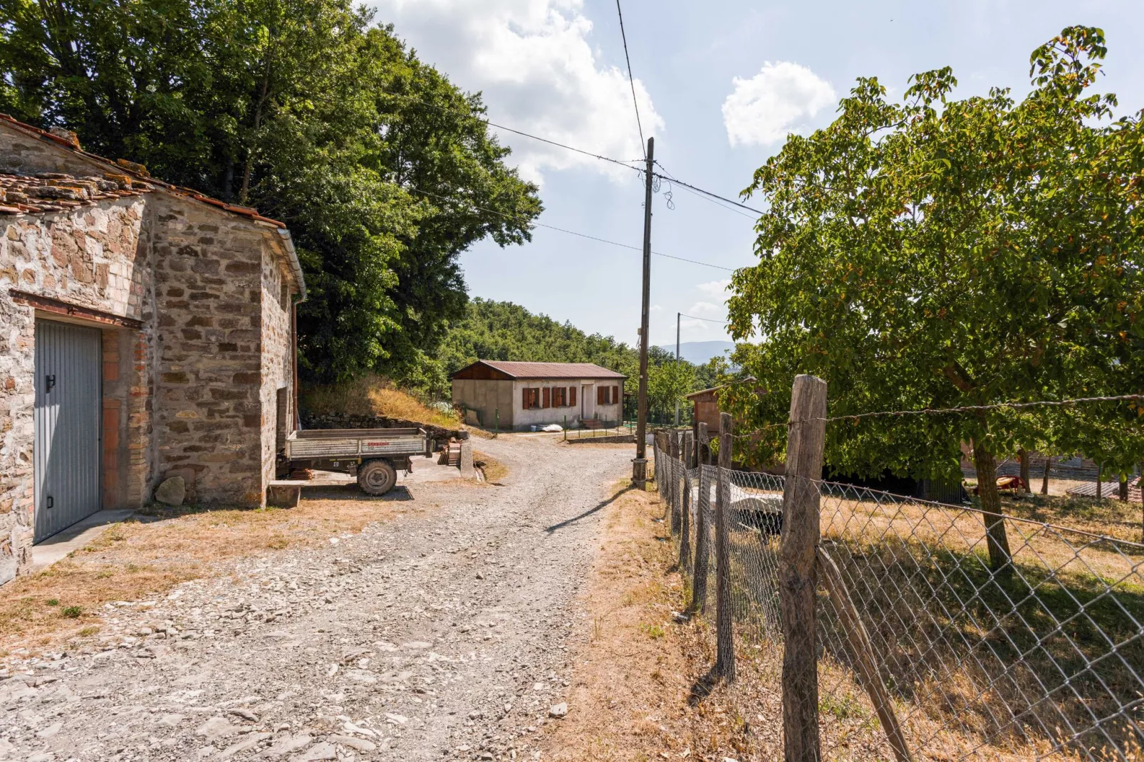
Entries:
[[[422,61],[453,84],[482,90],[493,121],[627,160],[643,154],[627,72],[597,61],[583,0],[374,0],[378,21],[392,22]],[[618,35],[617,35],[618,37]],[[612,46],[618,40],[597,43]],[[645,135],[664,130],[651,97],[636,79]],[[589,167],[614,178],[636,177],[619,166],[503,133],[527,180],[550,169]]]

